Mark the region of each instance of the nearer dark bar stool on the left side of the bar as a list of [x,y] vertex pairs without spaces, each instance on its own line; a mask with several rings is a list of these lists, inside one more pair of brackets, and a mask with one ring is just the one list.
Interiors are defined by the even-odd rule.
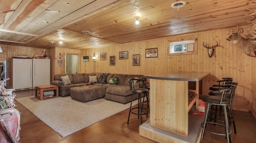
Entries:
[[[134,94],[138,94],[138,107],[132,108],[132,101],[131,101],[127,124],[129,124],[130,113],[138,115],[138,119],[140,118],[140,123],[142,124],[142,115],[147,115],[146,117],[148,118],[149,107],[147,106],[147,108],[142,108],[143,103],[141,101],[141,98],[142,98],[141,94],[144,94],[143,95],[144,97],[149,92],[149,90],[146,88],[140,87],[140,81],[141,81],[140,79],[129,79],[128,81],[130,84],[130,92],[132,92],[132,101],[133,101]],[[146,96],[146,98],[148,100],[148,96]],[[134,109],[138,109],[138,112],[133,112],[132,110]],[[143,110],[145,110],[146,112],[143,112]]]

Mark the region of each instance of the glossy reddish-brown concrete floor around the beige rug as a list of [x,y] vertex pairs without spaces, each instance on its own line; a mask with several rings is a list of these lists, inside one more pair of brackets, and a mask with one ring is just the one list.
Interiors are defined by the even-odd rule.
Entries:
[[[34,90],[16,91],[16,98],[33,96]],[[76,133],[61,137],[34,114],[16,102],[16,109],[21,112],[19,143],[155,143],[139,135],[140,119],[131,114],[127,125],[129,110],[110,116]],[[58,106],[58,105],[56,105]],[[53,109],[54,110],[54,109]],[[49,111],[50,112],[50,111]],[[236,131],[231,134],[232,143],[256,142],[256,119],[249,112],[234,111]],[[149,119],[142,118],[143,122]],[[212,126],[216,131],[222,127]],[[233,129],[233,125],[230,125]],[[205,132],[203,143],[226,143],[224,136]]]

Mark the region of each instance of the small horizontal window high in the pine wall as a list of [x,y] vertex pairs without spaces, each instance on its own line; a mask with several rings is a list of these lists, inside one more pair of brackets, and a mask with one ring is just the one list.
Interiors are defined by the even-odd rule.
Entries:
[[186,53],[187,44],[195,43],[194,40],[190,41],[178,41],[178,42],[171,42],[170,43],[170,53]]

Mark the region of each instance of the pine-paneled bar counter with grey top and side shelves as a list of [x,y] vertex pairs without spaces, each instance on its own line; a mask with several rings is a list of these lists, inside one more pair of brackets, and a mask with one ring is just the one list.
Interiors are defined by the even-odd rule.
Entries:
[[[209,74],[174,72],[145,75],[144,78],[150,79],[150,126],[187,137],[188,111],[195,102],[198,109],[199,81]],[[196,83],[196,90],[188,89],[189,81]],[[195,92],[190,101],[188,91]]]

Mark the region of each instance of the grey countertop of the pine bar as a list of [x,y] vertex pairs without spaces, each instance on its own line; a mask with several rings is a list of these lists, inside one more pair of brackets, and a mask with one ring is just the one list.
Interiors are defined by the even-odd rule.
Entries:
[[210,72],[172,72],[144,75],[144,78],[152,78],[159,80],[178,80],[178,81],[200,81]]

